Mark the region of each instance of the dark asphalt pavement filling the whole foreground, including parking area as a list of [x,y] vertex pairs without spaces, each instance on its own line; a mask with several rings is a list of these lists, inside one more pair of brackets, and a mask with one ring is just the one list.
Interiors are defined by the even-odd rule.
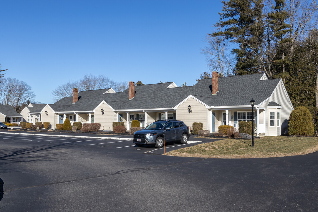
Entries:
[[140,149],[125,140],[95,144],[6,136],[0,133],[0,211],[318,210],[317,152],[264,159],[182,158],[145,153],[143,148],[152,147]]

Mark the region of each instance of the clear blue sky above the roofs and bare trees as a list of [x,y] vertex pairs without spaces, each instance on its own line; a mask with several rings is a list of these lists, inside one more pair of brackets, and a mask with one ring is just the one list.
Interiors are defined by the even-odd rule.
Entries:
[[0,62],[44,103],[86,73],[193,85],[209,70],[201,48],[221,9],[213,0],[2,1]]

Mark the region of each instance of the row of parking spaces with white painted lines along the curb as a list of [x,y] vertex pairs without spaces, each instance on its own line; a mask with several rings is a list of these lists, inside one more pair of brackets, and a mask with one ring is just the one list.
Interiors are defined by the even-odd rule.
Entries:
[[[70,136],[54,136],[54,135],[35,135],[35,134],[19,134],[19,133],[1,133],[0,141],[2,142],[12,142],[12,143],[23,143],[30,144],[32,146],[36,145],[61,145],[68,147],[87,147],[87,148],[106,148],[108,151],[128,151],[135,153],[150,153],[150,154],[164,154],[175,149],[193,146],[200,142],[210,142],[210,139],[195,139],[194,136],[191,137],[187,144],[181,144],[180,142],[169,142],[162,148],[155,148],[152,145],[144,145],[143,147],[137,147],[132,138],[125,138],[124,136],[116,136],[113,139],[102,139],[102,138],[76,138]],[[132,137],[132,136],[131,136]],[[194,140],[193,140],[194,139]]]

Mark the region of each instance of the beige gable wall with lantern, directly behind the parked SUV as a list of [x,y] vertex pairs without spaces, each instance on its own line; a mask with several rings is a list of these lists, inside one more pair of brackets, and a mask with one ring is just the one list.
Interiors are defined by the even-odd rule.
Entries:
[[[189,113],[188,106],[191,106],[192,113]],[[210,130],[207,128],[207,116],[210,112],[206,107],[197,100],[190,97],[176,110],[176,117],[178,120],[183,121],[189,128],[192,127],[193,122],[202,122],[204,130]]]

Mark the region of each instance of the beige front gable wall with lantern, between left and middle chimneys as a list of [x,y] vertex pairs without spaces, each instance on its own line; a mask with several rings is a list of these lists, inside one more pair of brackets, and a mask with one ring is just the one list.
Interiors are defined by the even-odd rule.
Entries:
[[[100,109],[104,109],[104,114],[100,112]],[[95,110],[95,123],[100,123],[100,130],[113,130],[113,121],[114,121],[114,112],[109,106],[105,103],[102,103],[99,107]]]

